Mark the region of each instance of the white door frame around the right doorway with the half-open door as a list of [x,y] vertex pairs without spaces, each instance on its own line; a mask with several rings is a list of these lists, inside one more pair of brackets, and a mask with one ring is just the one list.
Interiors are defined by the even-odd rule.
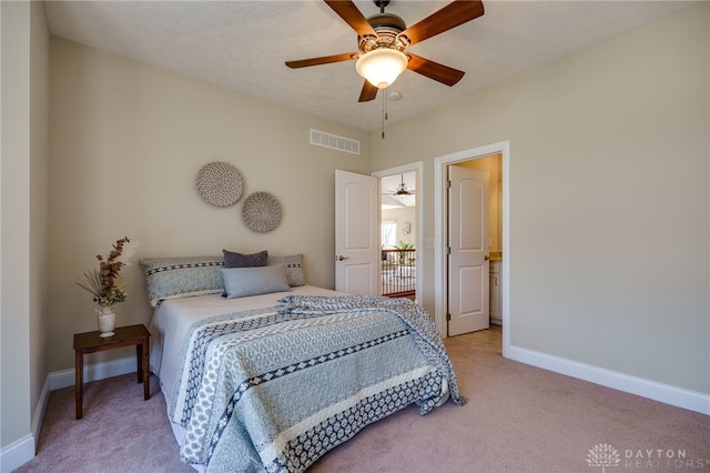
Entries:
[[[471,148],[434,159],[434,321],[442,334],[446,336],[446,294],[448,278],[446,266],[446,242],[448,241],[448,205],[446,201],[446,168],[463,161],[501,154],[503,164],[503,356],[508,358],[510,346],[510,141],[499,141],[478,148]],[[418,236],[418,233],[417,233]]]

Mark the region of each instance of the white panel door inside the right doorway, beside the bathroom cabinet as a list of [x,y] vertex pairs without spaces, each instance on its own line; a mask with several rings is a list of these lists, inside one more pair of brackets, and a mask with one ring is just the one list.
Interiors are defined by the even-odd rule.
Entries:
[[488,173],[448,167],[448,335],[488,329]]

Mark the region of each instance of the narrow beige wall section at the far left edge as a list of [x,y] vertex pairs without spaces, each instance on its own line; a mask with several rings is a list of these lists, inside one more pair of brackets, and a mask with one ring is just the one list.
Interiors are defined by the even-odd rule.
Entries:
[[[2,445],[30,432],[29,157],[30,29],[28,3],[2,9]],[[23,356],[17,356],[17,354]],[[12,378],[11,378],[12,376]],[[17,378],[14,378],[17,376]],[[12,383],[6,380],[13,380]]]

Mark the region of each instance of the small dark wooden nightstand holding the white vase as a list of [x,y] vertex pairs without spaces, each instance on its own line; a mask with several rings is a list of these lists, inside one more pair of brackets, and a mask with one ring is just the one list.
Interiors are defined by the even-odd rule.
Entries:
[[112,336],[102,339],[99,331],[84,332],[74,334],[74,360],[77,371],[77,419],[82,417],[82,399],[83,399],[83,375],[84,375],[84,354],[102,352],[104,350],[114,350],[123,346],[135,345],[135,354],[138,358],[138,382],[143,383],[143,399],[151,399],[150,383],[150,338],[151,332],[145,325],[119,326],[114,330]]

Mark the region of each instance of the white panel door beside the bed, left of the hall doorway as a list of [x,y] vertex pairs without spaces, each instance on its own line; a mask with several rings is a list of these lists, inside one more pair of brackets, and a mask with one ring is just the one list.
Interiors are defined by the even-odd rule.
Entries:
[[335,290],[379,294],[379,185],[335,171]]

